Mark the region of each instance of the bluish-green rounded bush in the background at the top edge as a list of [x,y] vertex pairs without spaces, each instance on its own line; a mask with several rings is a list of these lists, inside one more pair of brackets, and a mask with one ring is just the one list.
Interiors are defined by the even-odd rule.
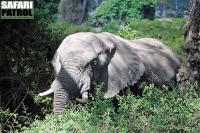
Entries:
[[155,8],[156,0],[106,0],[95,10],[92,19],[97,21],[122,20],[129,22],[133,18],[142,18],[144,7]]

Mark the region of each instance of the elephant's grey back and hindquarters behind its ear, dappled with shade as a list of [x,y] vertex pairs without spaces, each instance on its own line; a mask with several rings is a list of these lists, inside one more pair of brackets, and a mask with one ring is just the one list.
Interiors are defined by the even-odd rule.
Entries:
[[131,41],[131,47],[143,60],[147,71],[145,77],[149,82],[163,85],[170,81],[180,67],[180,60],[169,47],[152,38]]

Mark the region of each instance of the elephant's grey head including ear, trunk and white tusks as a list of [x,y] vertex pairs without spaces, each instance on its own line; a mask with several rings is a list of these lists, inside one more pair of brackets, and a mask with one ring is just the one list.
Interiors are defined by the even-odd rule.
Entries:
[[40,96],[54,92],[54,112],[61,114],[72,98],[86,102],[91,83],[105,83],[105,97],[135,84],[144,64],[134,50],[109,33],[77,33],[68,36],[57,49],[52,64],[55,80]]

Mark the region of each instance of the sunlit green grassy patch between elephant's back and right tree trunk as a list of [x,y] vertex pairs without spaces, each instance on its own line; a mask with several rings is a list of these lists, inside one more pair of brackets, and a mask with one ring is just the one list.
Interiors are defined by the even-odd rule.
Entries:
[[[184,57],[184,36],[182,27],[184,19],[170,20],[133,20],[129,23],[129,30],[138,31],[140,37],[155,38],[169,46],[178,55]],[[130,30],[131,31],[131,30]]]

